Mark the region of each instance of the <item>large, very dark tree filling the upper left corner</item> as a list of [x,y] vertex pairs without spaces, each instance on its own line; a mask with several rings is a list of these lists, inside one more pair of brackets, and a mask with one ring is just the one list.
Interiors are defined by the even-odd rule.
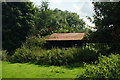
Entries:
[[13,52],[34,28],[34,5],[31,2],[2,3],[2,46]]

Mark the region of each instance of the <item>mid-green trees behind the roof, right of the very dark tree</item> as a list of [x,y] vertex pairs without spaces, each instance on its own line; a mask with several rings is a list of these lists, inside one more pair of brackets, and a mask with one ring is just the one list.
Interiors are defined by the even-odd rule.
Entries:
[[41,35],[86,31],[85,22],[77,13],[57,8],[51,10],[48,6],[49,2],[42,2],[41,6],[36,8],[36,27]]

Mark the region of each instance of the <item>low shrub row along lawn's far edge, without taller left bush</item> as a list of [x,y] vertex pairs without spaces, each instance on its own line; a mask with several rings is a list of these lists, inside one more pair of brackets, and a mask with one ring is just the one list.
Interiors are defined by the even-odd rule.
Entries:
[[98,54],[89,48],[28,48],[23,45],[12,56],[12,62],[32,62],[36,64],[66,65],[76,62],[92,62],[97,60]]

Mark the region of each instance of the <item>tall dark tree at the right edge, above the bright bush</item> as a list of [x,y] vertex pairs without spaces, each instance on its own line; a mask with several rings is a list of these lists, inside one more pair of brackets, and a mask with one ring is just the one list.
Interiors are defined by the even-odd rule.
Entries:
[[93,2],[95,15],[94,23],[96,32],[92,32],[89,38],[95,42],[103,42],[94,45],[100,53],[109,55],[120,54],[120,2]]

